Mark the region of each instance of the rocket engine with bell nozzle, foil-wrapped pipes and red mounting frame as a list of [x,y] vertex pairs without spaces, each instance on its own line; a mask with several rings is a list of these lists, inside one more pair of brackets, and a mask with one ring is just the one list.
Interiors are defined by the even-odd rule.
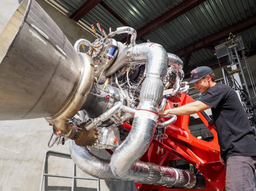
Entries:
[[[72,46],[34,0],[24,0],[0,35],[0,119],[45,117],[53,126],[48,146],[73,140],[75,164],[100,179],[137,182],[139,190],[216,190],[223,176],[217,138],[209,145],[194,138],[189,116],[158,116],[193,101],[182,60],[160,44],[136,44],[131,27],[109,34],[97,27],[101,38]],[[130,44],[113,38],[122,33],[131,34]],[[105,160],[88,148],[115,151]],[[191,169],[167,165],[176,159]]]

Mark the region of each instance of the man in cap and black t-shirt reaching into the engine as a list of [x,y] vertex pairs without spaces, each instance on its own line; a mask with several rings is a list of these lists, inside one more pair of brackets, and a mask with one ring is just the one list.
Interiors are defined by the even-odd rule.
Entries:
[[190,115],[211,108],[221,148],[219,158],[226,169],[226,191],[256,191],[256,141],[237,93],[228,85],[216,84],[209,67],[192,70],[191,77],[189,84],[205,95],[199,101],[161,110],[159,115]]

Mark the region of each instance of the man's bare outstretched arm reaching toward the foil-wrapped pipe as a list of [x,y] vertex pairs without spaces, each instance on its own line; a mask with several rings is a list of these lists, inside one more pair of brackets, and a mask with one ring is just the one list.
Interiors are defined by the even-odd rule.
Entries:
[[200,111],[210,109],[210,108],[212,108],[212,106],[209,106],[201,101],[195,101],[195,102],[183,105],[181,107],[175,107],[173,109],[167,109],[167,110],[159,110],[158,115],[159,116],[165,116],[168,114],[190,115],[190,114],[198,113]]

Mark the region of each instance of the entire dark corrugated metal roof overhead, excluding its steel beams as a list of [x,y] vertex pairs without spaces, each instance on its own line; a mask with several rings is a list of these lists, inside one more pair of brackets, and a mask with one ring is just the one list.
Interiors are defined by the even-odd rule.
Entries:
[[[70,16],[85,2],[85,0],[47,1],[52,1],[62,6],[66,10],[67,16]],[[104,0],[103,2],[111,7],[131,27],[139,29],[183,1]],[[207,0],[164,26],[159,27],[144,38],[163,45],[167,52],[174,52],[254,14],[256,14],[255,0]],[[123,26],[101,4],[95,6],[81,21],[88,26],[94,24],[96,30],[98,30],[96,23],[99,22],[106,32],[109,27],[115,30],[117,27]],[[256,49],[256,27],[247,29],[241,32],[240,35],[243,43],[250,43],[251,50]],[[116,35],[114,38],[121,40],[125,37],[127,35],[122,34]],[[219,41],[214,45],[225,41],[227,40]],[[142,40],[137,40],[137,43],[142,43]],[[182,59],[184,60],[184,58]],[[218,63],[218,60],[214,56],[213,50],[201,49],[191,54],[188,70],[202,65],[212,66],[216,63]]]

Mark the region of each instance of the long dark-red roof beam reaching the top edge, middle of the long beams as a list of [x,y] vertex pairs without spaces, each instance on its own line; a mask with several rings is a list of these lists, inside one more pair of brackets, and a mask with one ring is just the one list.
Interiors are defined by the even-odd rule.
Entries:
[[[187,11],[193,9],[194,7],[200,5],[201,3],[205,2],[206,0],[185,0],[179,5],[175,6],[173,9],[167,11],[166,13],[162,14],[158,18],[152,20],[150,23],[146,24],[145,26],[139,28],[137,30],[137,40],[143,38],[150,32],[156,30],[157,28],[169,23],[171,20],[176,19],[177,17],[181,16],[182,14],[186,13]],[[122,43],[126,42],[126,38],[121,40]]]

